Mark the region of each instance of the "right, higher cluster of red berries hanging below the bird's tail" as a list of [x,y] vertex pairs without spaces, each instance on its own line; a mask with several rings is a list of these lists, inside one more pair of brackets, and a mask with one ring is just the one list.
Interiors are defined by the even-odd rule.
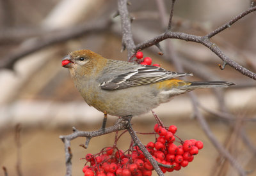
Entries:
[[153,158],[158,163],[163,164],[163,166],[160,166],[163,173],[173,172],[173,170],[180,170],[181,167],[188,166],[188,163],[193,161],[194,155],[198,154],[198,149],[204,147],[201,141],[191,139],[183,142],[177,136],[180,140],[180,145],[173,143],[175,142],[175,133],[177,131],[177,127],[173,125],[167,129],[156,124],[154,131],[159,136],[155,143],[149,142],[146,147]]

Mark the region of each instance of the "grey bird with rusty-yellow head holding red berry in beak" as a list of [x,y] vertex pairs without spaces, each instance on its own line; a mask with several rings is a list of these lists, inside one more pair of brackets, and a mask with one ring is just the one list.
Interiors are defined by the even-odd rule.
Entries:
[[144,114],[173,96],[197,88],[228,87],[231,82],[185,82],[175,77],[191,73],[116,61],[90,50],[71,52],[62,59],[86,103],[118,117]]

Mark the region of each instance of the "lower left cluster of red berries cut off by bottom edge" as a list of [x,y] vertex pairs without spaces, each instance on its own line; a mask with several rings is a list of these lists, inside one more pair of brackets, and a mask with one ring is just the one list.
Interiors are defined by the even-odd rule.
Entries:
[[90,166],[84,166],[84,176],[152,175],[153,166],[138,147],[126,152],[117,147],[107,147],[99,154],[87,154],[85,159]]

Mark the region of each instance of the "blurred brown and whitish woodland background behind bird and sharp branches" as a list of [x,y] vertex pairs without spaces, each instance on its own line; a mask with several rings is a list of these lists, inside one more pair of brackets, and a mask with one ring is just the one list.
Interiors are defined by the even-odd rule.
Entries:
[[[130,2],[136,43],[164,32],[164,18],[169,17],[171,1]],[[250,1],[241,0],[179,0],[175,3],[172,29],[204,36],[249,7]],[[117,2],[113,0],[0,1],[0,166],[5,166],[9,175],[18,175],[19,170],[22,175],[65,175],[64,145],[59,136],[72,133],[72,126],[83,131],[100,128],[103,114],[84,103],[68,70],[61,67],[61,58],[86,48],[108,59],[127,61],[127,52],[120,52],[122,32],[120,17],[113,18],[116,11]],[[255,13],[251,13],[211,41],[230,59],[255,72],[255,28]],[[143,53],[152,57],[153,63],[171,71],[177,71],[172,57],[178,58],[184,70],[195,75],[189,80],[236,83],[228,89],[194,92],[216,138],[248,175],[256,175],[255,80],[229,66],[221,71],[218,64],[222,61],[202,45],[166,40],[161,47],[163,56],[157,54],[157,47],[147,48]],[[187,94],[173,98],[155,112],[165,126],[177,126],[180,138],[204,142],[204,149],[192,163],[166,175],[237,175],[193,118]],[[108,126],[116,119],[110,116]],[[155,123],[152,114],[132,119],[134,129],[140,132],[153,131]],[[73,175],[83,175],[85,161],[80,158],[113,145],[114,136],[93,138],[86,150],[79,147],[85,138],[72,140]],[[154,141],[154,136],[140,138],[145,144]],[[125,134],[118,147],[125,150],[129,143],[130,136]],[[3,174],[1,170],[0,175]]]

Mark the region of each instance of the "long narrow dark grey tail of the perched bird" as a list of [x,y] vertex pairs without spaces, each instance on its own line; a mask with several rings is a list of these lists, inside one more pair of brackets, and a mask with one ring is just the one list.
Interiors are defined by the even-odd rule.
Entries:
[[191,84],[188,87],[186,87],[186,89],[228,87],[229,85],[236,85],[233,82],[225,82],[225,81],[189,82],[189,83]]

